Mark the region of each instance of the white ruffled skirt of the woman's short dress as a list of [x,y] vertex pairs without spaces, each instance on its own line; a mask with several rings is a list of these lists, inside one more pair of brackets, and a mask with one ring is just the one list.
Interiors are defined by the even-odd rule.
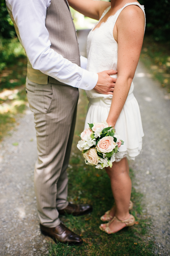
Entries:
[[[88,100],[89,105],[85,120],[85,128],[89,127],[88,123],[100,123],[103,120],[106,121],[112,99],[105,97],[88,97]],[[124,144],[119,148],[119,152],[115,154],[116,162],[119,162],[124,157],[127,157],[128,160],[135,160],[135,157],[139,155],[142,149],[142,137],[144,136],[144,133],[139,105],[133,93],[128,95],[122,112],[117,119],[115,129],[120,135],[120,139],[124,141]]]

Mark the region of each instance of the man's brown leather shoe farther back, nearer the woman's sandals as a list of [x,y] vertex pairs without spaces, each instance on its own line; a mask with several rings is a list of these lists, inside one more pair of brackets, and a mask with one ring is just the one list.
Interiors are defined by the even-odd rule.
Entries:
[[65,209],[58,210],[59,214],[73,214],[74,216],[79,216],[87,214],[93,210],[90,204],[68,204]]

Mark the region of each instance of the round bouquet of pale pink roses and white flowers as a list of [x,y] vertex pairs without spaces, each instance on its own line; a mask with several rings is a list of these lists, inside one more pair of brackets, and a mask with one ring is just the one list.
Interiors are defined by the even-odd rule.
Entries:
[[86,128],[79,136],[77,148],[82,151],[85,163],[96,165],[97,169],[112,167],[115,161],[115,153],[118,150],[118,141],[120,136],[108,123],[88,123]]

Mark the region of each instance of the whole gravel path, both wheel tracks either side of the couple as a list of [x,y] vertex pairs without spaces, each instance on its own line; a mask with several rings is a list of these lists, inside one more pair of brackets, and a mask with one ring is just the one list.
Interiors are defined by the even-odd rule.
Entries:
[[[87,34],[88,30],[79,33],[83,55]],[[134,85],[145,137],[141,154],[130,166],[136,173],[135,187],[144,194],[143,213],[153,220],[152,235],[160,243],[160,254],[170,255],[170,100],[165,89],[149,78],[141,63]],[[36,212],[33,184],[36,157],[33,113],[28,109],[12,136],[0,144],[0,255],[48,253],[49,238],[40,234]]]

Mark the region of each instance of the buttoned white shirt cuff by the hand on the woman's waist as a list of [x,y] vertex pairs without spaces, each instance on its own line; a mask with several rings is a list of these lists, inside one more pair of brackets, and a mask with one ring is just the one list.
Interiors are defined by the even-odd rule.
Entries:
[[78,88],[81,88],[87,91],[92,90],[96,86],[97,81],[98,81],[97,73],[89,72],[83,69],[82,79],[79,82]]

